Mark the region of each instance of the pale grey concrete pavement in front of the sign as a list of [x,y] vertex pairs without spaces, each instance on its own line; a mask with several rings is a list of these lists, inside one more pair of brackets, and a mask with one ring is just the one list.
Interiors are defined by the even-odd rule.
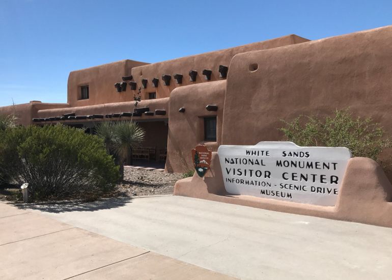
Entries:
[[243,279],[391,279],[392,229],[185,197],[36,206],[69,225]]

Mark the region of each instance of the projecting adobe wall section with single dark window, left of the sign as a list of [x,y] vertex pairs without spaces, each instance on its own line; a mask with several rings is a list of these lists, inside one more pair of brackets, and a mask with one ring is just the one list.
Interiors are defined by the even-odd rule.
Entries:
[[[203,144],[210,151],[221,145],[223,104],[226,80],[199,83],[175,89],[170,96],[169,135],[166,170],[184,173],[193,170],[191,150]],[[217,111],[207,111],[207,105],[217,105]],[[184,107],[185,112],[178,110]],[[203,117],[216,117],[216,142],[204,141]]]

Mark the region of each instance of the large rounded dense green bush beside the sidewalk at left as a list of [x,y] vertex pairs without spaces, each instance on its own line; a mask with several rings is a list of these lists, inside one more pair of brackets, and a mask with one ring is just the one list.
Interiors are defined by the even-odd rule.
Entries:
[[62,125],[8,128],[0,139],[0,170],[29,183],[33,199],[97,196],[119,179],[102,139]]

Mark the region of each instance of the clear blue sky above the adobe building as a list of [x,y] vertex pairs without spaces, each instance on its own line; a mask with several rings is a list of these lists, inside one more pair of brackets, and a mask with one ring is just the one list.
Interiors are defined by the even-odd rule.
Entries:
[[67,102],[72,70],[392,24],[392,1],[0,0],[0,106]]

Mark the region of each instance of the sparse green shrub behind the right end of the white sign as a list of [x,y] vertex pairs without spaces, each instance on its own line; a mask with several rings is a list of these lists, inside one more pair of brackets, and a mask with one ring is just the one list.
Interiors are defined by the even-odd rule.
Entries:
[[319,119],[299,116],[279,128],[289,141],[299,146],[346,147],[353,156],[379,161],[391,140],[384,129],[372,118],[353,117],[349,109],[335,110],[334,116]]

